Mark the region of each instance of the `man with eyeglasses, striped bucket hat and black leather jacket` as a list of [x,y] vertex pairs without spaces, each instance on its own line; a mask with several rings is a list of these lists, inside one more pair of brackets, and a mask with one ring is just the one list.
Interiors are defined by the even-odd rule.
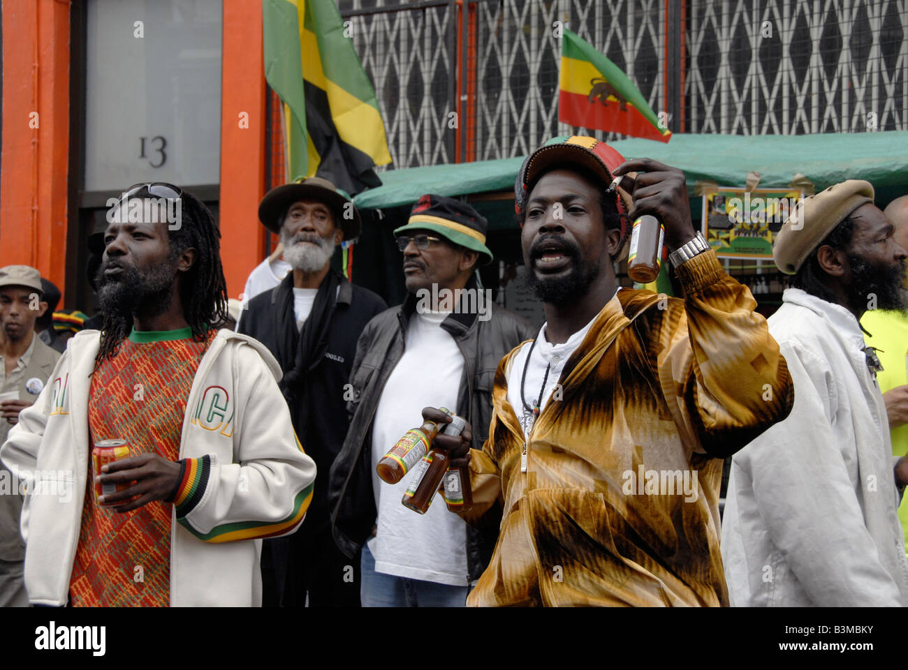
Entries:
[[375,471],[426,405],[472,421],[477,446],[486,438],[498,361],[533,332],[478,280],[493,260],[487,229],[468,204],[423,195],[394,231],[408,296],[360,336],[350,430],[331,468],[334,538],[349,557],[361,547],[363,606],[463,606],[494,546],[491,516],[469,527],[443,501],[419,516],[400,504],[410,476],[392,486]]

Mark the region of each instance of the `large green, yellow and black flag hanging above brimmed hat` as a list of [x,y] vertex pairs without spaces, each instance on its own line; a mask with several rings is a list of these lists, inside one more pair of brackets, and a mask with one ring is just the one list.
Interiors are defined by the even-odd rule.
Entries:
[[319,176],[350,193],[391,162],[369,77],[333,0],[262,0],[265,79],[281,98],[287,181]]

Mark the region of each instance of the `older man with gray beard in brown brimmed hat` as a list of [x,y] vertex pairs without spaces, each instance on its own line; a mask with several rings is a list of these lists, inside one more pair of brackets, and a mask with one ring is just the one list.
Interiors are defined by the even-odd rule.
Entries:
[[334,247],[356,238],[361,225],[334,184],[311,177],[272,189],[259,220],[280,235],[292,271],[249,302],[237,330],[260,340],[281,364],[293,426],[318,468],[300,530],[264,542],[262,605],[359,606],[360,561],[345,557],[331,537],[327,478],[347,433],[344,386],[356,342],[387,306],[331,268]]

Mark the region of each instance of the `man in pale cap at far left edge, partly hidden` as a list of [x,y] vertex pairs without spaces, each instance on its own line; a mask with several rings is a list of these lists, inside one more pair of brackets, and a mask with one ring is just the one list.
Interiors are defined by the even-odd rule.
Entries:
[[[0,268],[0,446],[19,412],[35,403],[60,358],[35,333],[35,320],[46,310],[41,274],[35,268]],[[25,543],[19,533],[22,497],[18,480],[3,465],[0,477],[8,483],[8,490],[0,490],[0,607],[27,606]]]

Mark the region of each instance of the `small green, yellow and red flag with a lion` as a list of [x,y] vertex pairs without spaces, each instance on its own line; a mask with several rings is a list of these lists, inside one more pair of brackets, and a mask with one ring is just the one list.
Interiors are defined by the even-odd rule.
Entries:
[[659,120],[627,74],[576,33],[561,38],[558,121],[583,128],[668,142]]

